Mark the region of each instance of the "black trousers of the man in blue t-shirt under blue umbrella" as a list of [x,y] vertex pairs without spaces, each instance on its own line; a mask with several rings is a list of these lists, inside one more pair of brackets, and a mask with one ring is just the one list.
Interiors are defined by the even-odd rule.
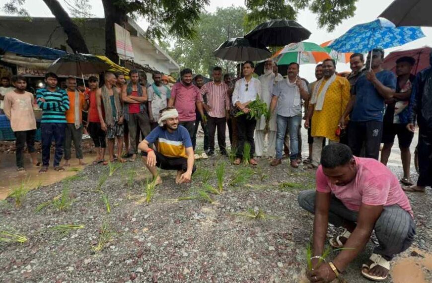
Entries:
[[364,157],[378,160],[381,137],[381,121],[350,122],[348,143],[356,156],[360,156],[361,147],[364,143]]

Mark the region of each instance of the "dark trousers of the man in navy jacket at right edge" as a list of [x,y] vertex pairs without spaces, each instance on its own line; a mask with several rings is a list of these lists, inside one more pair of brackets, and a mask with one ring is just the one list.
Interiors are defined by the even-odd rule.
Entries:
[[432,187],[432,128],[420,127],[419,144],[419,179],[417,186]]

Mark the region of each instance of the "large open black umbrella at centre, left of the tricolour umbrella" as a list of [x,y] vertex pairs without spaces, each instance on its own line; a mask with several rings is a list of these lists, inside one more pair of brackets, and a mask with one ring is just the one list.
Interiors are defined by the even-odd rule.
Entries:
[[308,39],[310,31],[292,20],[271,20],[257,25],[244,37],[265,46],[285,46]]

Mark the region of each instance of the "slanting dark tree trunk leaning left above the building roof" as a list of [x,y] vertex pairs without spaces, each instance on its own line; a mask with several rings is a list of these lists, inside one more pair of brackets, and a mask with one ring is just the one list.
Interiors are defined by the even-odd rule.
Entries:
[[72,48],[73,52],[90,53],[85,40],[78,29],[78,26],[72,21],[69,14],[65,11],[58,0],[43,0],[51,10],[57,21],[63,27],[68,39],[66,43]]

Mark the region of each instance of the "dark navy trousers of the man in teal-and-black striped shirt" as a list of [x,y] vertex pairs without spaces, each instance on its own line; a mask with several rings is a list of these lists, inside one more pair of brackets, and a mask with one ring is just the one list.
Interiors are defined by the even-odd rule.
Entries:
[[63,143],[65,142],[66,123],[41,123],[42,138],[42,165],[50,165],[51,142],[54,140],[54,167],[60,166],[63,156]]

